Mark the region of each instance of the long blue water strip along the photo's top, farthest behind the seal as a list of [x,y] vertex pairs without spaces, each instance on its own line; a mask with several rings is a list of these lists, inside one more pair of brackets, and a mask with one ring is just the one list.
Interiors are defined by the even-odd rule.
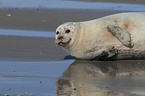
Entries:
[[[145,11],[145,5],[71,0],[1,0],[0,8],[111,9]],[[32,4],[33,3],[33,4]]]

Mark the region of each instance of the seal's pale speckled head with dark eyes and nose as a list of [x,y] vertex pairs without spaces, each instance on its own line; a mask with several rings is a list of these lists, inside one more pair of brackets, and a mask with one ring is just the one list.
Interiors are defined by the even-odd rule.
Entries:
[[68,22],[60,25],[56,29],[55,41],[62,47],[71,46],[77,35],[77,23]]

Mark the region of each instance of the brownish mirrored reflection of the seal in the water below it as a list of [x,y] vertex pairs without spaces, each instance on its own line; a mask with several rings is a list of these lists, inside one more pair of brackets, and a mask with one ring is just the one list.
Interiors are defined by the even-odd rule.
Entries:
[[144,75],[143,61],[75,61],[57,81],[57,96],[127,96]]

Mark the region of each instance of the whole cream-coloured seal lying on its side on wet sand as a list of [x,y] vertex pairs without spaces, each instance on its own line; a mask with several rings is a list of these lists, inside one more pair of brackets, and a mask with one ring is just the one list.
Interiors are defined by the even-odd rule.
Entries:
[[64,23],[56,43],[77,59],[145,59],[145,12]]

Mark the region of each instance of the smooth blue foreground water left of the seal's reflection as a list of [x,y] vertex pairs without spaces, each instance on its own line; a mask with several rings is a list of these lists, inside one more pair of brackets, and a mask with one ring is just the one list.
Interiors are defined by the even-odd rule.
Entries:
[[72,62],[0,62],[0,94],[55,96],[55,83]]

